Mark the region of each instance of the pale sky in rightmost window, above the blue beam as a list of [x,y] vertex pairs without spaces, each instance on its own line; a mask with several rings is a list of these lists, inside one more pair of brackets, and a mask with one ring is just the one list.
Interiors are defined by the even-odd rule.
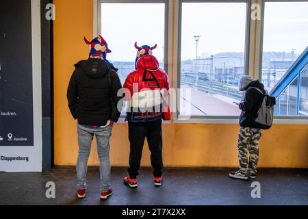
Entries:
[[308,2],[266,2],[264,21],[264,51],[308,47]]

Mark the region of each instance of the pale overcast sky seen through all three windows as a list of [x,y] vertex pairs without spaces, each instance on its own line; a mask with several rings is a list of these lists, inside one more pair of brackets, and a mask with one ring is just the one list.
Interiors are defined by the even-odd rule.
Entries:
[[[102,3],[102,35],[113,53],[112,61],[134,61],[133,44],[157,44],[153,55],[164,58],[164,3]],[[181,58],[196,57],[195,35],[200,35],[198,56],[243,52],[246,34],[246,3],[183,3]],[[308,3],[267,2],[264,22],[264,51],[308,46]]]

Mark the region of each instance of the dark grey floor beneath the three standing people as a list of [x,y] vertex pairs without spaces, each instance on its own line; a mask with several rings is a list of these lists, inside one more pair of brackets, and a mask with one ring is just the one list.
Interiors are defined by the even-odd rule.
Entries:
[[[232,169],[234,170],[234,169]],[[75,168],[43,173],[0,172],[0,205],[308,205],[307,169],[260,169],[261,198],[251,198],[253,181],[229,179],[231,169],[167,168],[164,185],[153,186],[151,169],[142,168],[138,189],[123,185],[126,168],[112,168],[114,196],[99,199],[99,169],[88,170],[88,192],[76,198]],[[55,183],[54,199],[45,183]]]

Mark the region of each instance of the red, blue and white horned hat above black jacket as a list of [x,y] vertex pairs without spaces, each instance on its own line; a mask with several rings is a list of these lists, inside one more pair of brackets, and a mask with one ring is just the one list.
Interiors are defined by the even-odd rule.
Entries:
[[112,52],[110,49],[108,49],[107,42],[104,40],[104,38],[101,35],[99,35],[99,37],[97,38],[94,38],[91,42],[87,40],[86,37],[84,37],[84,42],[90,45],[89,59],[91,55],[103,54],[103,59],[106,60],[107,53]]

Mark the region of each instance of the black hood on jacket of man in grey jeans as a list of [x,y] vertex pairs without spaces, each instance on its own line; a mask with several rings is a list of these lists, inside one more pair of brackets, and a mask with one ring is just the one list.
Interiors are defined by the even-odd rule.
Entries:
[[107,63],[103,60],[89,59],[83,60],[75,64],[75,67],[80,67],[88,77],[100,79],[109,73]]

